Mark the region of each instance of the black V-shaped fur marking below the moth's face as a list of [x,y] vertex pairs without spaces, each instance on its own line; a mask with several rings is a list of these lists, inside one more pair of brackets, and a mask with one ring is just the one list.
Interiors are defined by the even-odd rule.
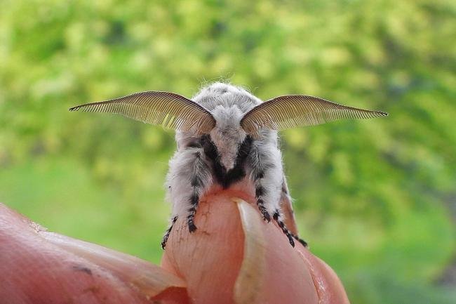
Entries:
[[[206,154],[206,157],[208,157],[212,163],[213,173],[217,183],[220,183],[224,189],[246,176],[244,164],[246,163],[248,154],[252,149],[252,143],[253,138],[251,136],[247,136],[239,147],[234,168],[227,171],[227,169],[220,163],[220,154],[215,144],[212,140],[210,140],[210,136],[203,135],[199,138],[199,145],[203,147],[204,154]],[[195,143],[192,143],[191,145],[194,146]]]

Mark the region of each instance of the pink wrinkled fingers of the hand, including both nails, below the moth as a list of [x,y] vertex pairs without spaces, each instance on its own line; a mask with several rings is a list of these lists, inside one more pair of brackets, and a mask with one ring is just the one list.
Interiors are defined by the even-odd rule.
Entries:
[[328,265],[293,249],[246,201],[204,197],[199,230],[178,220],[161,267],[48,232],[0,204],[0,303],[349,303]]

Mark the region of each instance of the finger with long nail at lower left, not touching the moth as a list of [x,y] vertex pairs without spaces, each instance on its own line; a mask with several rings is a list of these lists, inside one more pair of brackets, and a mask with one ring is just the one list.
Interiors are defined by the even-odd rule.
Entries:
[[0,243],[0,303],[133,304],[162,293],[163,303],[180,303],[169,299],[185,296],[185,282],[166,270],[47,232],[1,204]]

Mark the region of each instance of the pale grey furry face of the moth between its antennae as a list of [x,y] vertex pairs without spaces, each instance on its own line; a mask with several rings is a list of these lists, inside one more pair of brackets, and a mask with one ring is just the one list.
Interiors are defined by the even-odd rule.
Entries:
[[213,141],[220,154],[220,163],[227,170],[236,165],[239,146],[246,139],[246,131],[241,128],[243,112],[236,105],[223,107],[219,105],[213,110],[215,127],[210,131]]

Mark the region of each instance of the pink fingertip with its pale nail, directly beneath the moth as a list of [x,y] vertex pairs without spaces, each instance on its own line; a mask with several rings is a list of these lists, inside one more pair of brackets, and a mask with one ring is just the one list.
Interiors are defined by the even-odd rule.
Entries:
[[195,234],[177,223],[161,265],[196,303],[318,303],[307,265],[256,206],[222,192],[200,201],[195,221]]

